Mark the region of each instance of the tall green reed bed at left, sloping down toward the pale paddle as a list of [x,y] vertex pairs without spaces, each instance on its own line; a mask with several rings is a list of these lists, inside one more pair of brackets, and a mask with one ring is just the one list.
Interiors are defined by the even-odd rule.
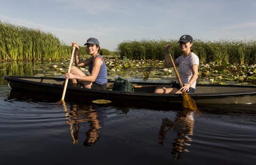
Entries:
[[0,21],[2,60],[57,60],[70,53],[71,46],[50,32]]

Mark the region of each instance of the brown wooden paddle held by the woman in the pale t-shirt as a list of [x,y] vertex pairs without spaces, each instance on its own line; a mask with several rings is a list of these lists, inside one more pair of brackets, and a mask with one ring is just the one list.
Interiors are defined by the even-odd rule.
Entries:
[[[173,65],[173,69],[174,69],[174,72],[175,72],[175,74],[176,74],[176,76],[177,76],[177,79],[178,79],[178,81],[179,81],[180,87],[182,88],[183,85],[182,85],[182,82],[181,82],[181,80],[180,80],[179,73],[178,73],[178,71],[177,71],[177,69],[176,69],[176,67],[175,67],[174,62],[173,62],[173,59],[172,59],[171,54],[169,54],[169,57],[170,57],[170,59],[171,59],[171,62],[172,62],[172,65]],[[183,99],[183,107],[189,108],[189,109],[191,109],[191,110],[197,110],[195,101],[194,101],[194,100],[190,97],[190,95],[188,95],[185,91],[182,92],[182,99]]]

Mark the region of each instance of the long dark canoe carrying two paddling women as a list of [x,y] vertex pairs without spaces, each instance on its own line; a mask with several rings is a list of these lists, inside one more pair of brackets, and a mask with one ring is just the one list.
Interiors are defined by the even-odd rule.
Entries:
[[[4,76],[12,90],[30,91],[51,95],[61,95],[64,78]],[[131,82],[134,92],[113,91],[114,81],[107,83],[107,90],[75,88],[68,83],[66,97],[90,97],[105,100],[134,100],[182,103],[181,94],[154,93],[157,86],[166,83]],[[256,86],[197,84],[196,92],[189,94],[195,103],[256,103]]]

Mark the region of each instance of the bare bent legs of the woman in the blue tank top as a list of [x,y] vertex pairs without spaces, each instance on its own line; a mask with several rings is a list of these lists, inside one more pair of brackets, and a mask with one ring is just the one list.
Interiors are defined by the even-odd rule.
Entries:
[[[79,76],[86,76],[86,74],[84,74],[84,72],[79,70],[79,68],[77,68],[76,66],[71,66],[70,73],[79,75]],[[80,80],[72,79],[70,82],[71,82],[71,86],[74,86],[74,87],[78,87],[78,84],[80,83],[84,85],[84,88],[91,89],[91,85],[92,85],[91,81],[80,81]]]

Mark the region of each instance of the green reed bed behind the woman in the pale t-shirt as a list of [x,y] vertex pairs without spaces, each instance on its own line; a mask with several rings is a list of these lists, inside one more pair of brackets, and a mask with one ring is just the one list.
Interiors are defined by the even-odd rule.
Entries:
[[[164,59],[164,46],[171,45],[171,54],[174,58],[181,55],[178,40],[125,40],[118,44],[116,50],[121,58],[129,59]],[[256,63],[256,41],[249,40],[227,40],[204,41],[195,39],[193,52],[198,55],[201,62],[227,62],[234,64]]]

